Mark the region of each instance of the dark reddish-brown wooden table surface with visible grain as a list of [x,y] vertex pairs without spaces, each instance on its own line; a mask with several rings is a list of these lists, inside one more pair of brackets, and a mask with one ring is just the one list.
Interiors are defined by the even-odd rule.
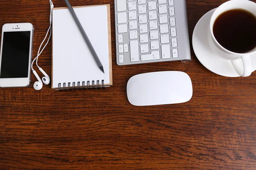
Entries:
[[[187,0],[190,44],[198,20],[225,1]],[[65,6],[64,0],[53,3]],[[245,78],[214,74],[201,65],[192,45],[192,62],[118,66],[114,0],[70,3],[111,4],[113,87],[81,92],[58,92],[50,85],[41,91],[33,85],[1,88],[0,169],[256,169],[255,72]],[[49,1],[1,0],[0,27],[19,22],[35,27],[35,57],[49,27]],[[51,45],[38,61],[49,75]],[[191,77],[189,102],[148,107],[128,102],[130,77],[170,70]]]

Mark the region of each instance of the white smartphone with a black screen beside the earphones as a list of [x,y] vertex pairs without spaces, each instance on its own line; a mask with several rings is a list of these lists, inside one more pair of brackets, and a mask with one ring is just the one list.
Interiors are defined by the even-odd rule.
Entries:
[[3,25],[0,87],[28,87],[31,83],[34,27],[31,23]]

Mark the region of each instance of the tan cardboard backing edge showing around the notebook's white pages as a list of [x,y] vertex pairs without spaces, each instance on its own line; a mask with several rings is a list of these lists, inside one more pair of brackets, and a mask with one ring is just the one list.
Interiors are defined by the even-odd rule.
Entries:
[[[113,85],[113,73],[112,73],[112,46],[111,46],[111,13],[110,13],[110,4],[102,4],[102,5],[90,5],[90,6],[106,6],[107,7],[107,20],[108,20],[108,59],[109,59],[109,84],[105,84],[105,86]],[[90,6],[74,6],[73,8],[81,8],[81,7],[90,7]],[[53,8],[52,10],[58,9],[67,9],[67,7],[59,7]],[[52,20],[52,22],[54,22]],[[53,27],[53,26],[52,26]],[[52,34],[53,41],[53,34]],[[53,78],[53,43],[52,43],[52,78]],[[52,81],[52,89],[58,90],[58,88],[53,88]]]

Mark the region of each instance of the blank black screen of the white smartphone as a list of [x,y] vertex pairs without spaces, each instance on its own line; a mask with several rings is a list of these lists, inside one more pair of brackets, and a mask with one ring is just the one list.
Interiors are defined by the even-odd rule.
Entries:
[[3,32],[0,78],[29,75],[30,31]]

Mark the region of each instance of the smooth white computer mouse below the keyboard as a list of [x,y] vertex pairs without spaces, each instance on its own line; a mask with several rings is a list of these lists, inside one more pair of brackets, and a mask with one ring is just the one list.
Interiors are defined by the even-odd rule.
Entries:
[[127,83],[128,100],[136,106],[188,102],[192,94],[191,79],[181,71],[138,74]]

